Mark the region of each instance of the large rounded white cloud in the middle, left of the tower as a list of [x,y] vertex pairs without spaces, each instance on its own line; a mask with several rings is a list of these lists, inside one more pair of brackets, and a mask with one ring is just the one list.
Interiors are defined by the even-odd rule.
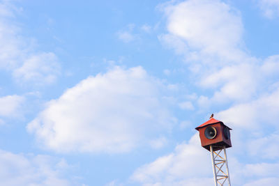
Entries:
[[172,128],[160,88],[141,67],[115,67],[48,102],[27,129],[56,151],[125,152]]

